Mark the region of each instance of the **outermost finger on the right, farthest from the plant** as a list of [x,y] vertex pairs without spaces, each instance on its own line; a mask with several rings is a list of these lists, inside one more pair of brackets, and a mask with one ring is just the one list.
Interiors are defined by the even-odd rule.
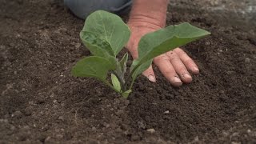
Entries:
[[182,49],[176,48],[173,51],[178,54],[178,57],[182,60],[188,70],[190,70],[193,74],[199,74],[198,66]]

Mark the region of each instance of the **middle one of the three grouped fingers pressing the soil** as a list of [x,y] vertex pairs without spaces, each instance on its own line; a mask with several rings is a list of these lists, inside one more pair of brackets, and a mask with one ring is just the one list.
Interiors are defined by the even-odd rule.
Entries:
[[170,63],[174,66],[174,70],[178,73],[179,78],[182,82],[189,83],[192,81],[190,73],[186,70],[186,66],[183,64],[182,60],[178,57],[174,51],[169,51],[166,53],[168,58],[170,58]]

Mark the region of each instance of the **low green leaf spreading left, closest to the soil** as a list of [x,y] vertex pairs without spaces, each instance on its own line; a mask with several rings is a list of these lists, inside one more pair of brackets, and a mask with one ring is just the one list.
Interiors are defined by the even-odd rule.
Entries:
[[114,69],[115,66],[106,58],[91,56],[79,60],[72,68],[71,74],[75,77],[98,78],[105,82],[108,71]]

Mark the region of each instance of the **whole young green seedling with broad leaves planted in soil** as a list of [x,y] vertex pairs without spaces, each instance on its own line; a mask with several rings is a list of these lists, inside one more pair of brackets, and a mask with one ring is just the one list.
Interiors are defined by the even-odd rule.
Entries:
[[75,77],[97,78],[127,98],[135,79],[151,65],[154,57],[208,34],[187,22],[146,34],[138,42],[138,59],[127,70],[128,54],[121,60],[117,55],[130,38],[129,27],[117,15],[98,10],[86,18],[80,32],[83,44],[93,56],[78,61],[71,73]]

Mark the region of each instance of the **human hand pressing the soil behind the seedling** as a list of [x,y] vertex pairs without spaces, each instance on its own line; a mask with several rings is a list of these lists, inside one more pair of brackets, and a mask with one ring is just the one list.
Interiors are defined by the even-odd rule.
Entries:
[[[148,22],[128,22],[131,36],[126,45],[127,50],[134,59],[138,58],[138,42],[143,35],[153,32],[161,28]],[[154,58],[154,64],[162,74],[170,81],[172,86],[182,86],[182,83],[189,83],[192,81],[192,74],[199,74],[198,66],[195,62],[180,48],[162,54]],[[156,82],[154,70],[150,66],[142,73],[151,82]]]

